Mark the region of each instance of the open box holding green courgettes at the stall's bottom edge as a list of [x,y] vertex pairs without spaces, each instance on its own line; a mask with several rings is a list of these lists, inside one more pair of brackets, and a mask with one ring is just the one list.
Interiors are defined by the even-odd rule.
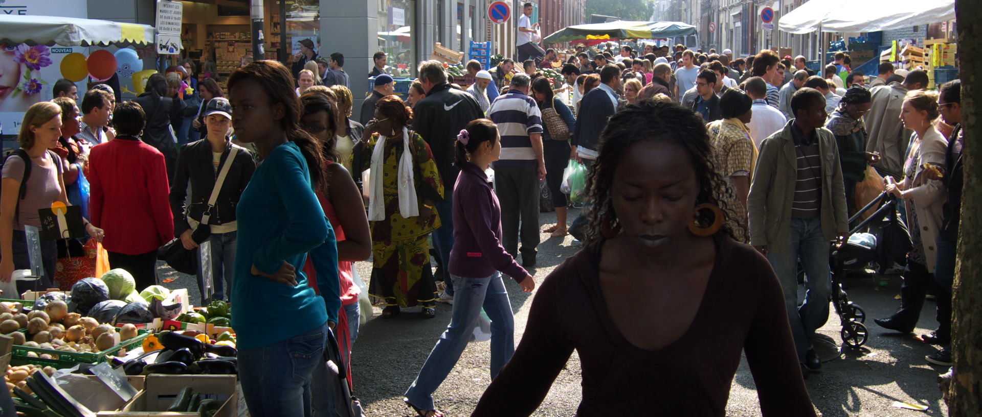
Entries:
[[[214,417],[236,417],[239,415],[239,394],[235,375],[147,375],[143,390],[119,411],[101,411],[99,417],[136,417],[166,415],[174,417],[197,417],[201,414],[193,408],[192,398],[200,402],[206,400],[215,410]],[[184,401],[186,395],[188,401]],[[184,402],[183,402],[184,401]],[[186,411],[167,410],[176,402],[187,402]]]

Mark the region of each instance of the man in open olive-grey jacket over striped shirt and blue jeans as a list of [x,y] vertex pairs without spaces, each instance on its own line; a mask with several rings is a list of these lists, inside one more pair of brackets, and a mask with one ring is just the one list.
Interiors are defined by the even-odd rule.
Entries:
[[[760,145],[747,198],[750,245],[781,281],[798,360],[817,371],[822,361],[812,342],[829,317],[829,244],[848,233],[846,191],[835,136],[823,127],[825,97],[801,87],[791,110],[796,117]],[[798,260],[807,289],[800,308]]]

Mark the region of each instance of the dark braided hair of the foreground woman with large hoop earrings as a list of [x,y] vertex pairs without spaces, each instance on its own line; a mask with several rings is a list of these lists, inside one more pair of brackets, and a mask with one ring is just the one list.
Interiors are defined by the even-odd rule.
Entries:
[[[586,210],[589,222],[586,240],[593,242],[603,239],[605,223],[611,230],[617,228],[618,218],[612,196],[614,172],[631,146],[648,140],[679,145],[689,154],[699,181],[700,191],[696,203],[718,206],[725,217],[724,226],[720,230],[736,240],[746,240],[745,228],[735,230],[736,222],[729,221],[736,218],[736,214],[728,202],[736,201],[736,198],[729,183],[714,166],[712,147],[702,117],[678,104],[650,99],[629,105],[611,116],[600,135],[597,151],[599,156],[587,178],[587,198],[592,205]],[[709,213],[700,212],[696,217],[696,222],[700,225],[710,224],[712,220]]]

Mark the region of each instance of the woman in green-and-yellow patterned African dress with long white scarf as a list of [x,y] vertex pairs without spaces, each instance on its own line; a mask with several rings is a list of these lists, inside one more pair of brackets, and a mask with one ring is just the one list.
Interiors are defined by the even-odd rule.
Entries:
[[407,127],[411,118],[412,110],[399,97],[379,99],[362,136],[368,139],[361,149],[364,164],[356,168],[371,169],[368,294],[384,306],[383,318],[416,305],[423,318],[436,315],[438,295],[426,237],[440,227],[433,204],[443,200],[443,183],[429,146]]

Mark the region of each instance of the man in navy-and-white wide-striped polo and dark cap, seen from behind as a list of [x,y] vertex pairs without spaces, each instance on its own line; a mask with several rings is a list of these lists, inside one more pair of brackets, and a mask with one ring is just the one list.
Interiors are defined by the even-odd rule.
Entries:
[[546,177],[542,158],[542,113],[528,96],[531,78],[512,77],[511,89],[488,108],[488,118],[498,124],[501,158],[494,162],[494,191],[501,203],[502,243],[518,258],[518,224],[521,223],[521,266],[535,267],[539,246],[539,181]]

